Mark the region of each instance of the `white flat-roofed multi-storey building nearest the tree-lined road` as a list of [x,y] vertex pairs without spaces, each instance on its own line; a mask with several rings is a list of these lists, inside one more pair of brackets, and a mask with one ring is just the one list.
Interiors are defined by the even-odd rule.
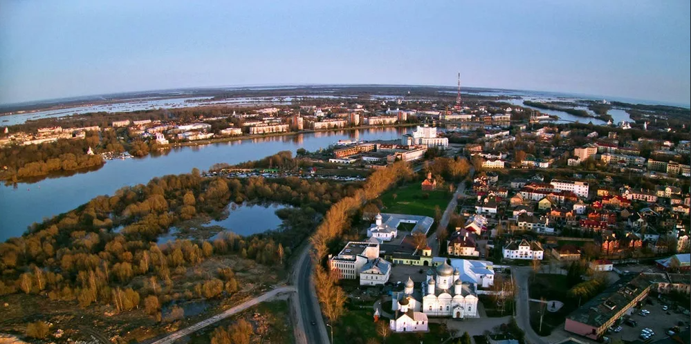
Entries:
[[362,267],[378,258],[378,243],[351,241],[343,247],[338,256],[329,257],[329,265],[332,270],[338,269],[340,278],[354,280],[360,277]]

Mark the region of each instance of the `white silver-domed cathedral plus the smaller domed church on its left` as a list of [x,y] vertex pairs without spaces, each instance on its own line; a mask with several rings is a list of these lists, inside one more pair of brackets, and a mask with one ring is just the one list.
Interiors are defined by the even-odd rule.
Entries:
[[[422,292],[414,291],[414,283],[408,278],[403,292],[394,292],[392,309],[412,309],[427,316],[451,318],[477,318],[475,285],[463,282],[461,271],[447,262],[427,271]],[[405,307],[402,307],[404,306]]]

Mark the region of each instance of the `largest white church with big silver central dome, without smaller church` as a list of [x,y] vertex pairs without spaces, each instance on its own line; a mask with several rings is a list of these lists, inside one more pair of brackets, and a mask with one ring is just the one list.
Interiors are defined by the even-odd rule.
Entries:
[[447,262],[427,274],[423,283],[422,312],[427,316],[477,318],[477,295],[471,283],[461,279],[461,271]]

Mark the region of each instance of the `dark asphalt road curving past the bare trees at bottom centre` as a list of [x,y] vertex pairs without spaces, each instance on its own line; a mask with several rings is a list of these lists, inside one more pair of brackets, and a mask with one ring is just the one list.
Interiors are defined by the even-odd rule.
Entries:
[[[301,321],[298,321],[296,325],[300,326],[300,323],[302,323],[306,343],[326,344],[329,343],[329,335],[326,333],[322,309],[317,300],[317,293],[311,278],[312,259],[308,252],[309,248],[305,250],[303,256],[298,260],[295,266],[297,273],[293,275],[295,287],[297,287],[297,307],[300,309],[301,314]],[[315,322],[316,325],[312,325],[312,322]]]

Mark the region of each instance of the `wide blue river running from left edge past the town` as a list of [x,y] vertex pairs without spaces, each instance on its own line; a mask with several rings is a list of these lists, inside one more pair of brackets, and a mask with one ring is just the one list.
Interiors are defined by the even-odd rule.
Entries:
[[21,236],[33,222],[70,211],[98,195],[111,195],[127,185],[145,184],[151,178],[206,170],[217,162],[236,164],[304,148],[316,151],[338,140],[396,140],[412,128],[376,128],[330,131],[239,140],[172,149],[166,155],[142,159],[110,160],[98,171],[48,178],[16,187],[0,186],[0,242]]

